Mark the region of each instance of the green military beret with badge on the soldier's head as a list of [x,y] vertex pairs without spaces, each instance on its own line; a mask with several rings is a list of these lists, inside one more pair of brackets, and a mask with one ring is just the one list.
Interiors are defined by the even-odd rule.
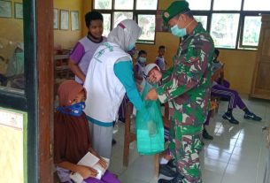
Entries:
[[189,10],[189,3],[185,0],[174,1],[165,11],[162,13],[162,19],[164,24],[167,25],[170,19],[173,19],[176,15],[181,12],[186,12]]

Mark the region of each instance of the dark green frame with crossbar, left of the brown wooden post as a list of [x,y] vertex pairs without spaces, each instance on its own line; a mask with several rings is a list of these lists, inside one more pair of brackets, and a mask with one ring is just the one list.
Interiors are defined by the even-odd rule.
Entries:
[[26,87],[24,94],[12,92],[12,89],[0,89],[0,106],[17,111],[27,111],[27,182],[38,182],[38,141],[36,138],[38,121],[37,93],[37,34],[36,34],[36,1],[24,0],[23,4],[23,38],[24,66]]

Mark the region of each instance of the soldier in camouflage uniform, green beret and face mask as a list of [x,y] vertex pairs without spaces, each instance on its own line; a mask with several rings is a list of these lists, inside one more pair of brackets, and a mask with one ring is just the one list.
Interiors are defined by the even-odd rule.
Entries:
[[174,179],[159,179],[158,183],[202,182],[198,153],[203,148],[200,136],[210,106],[214,46],[210,34],[193,18],[186,1],[172,3],[163,12],[163,19],[172,34],[183,37],[174,66],[163,76],[160,72],[150,75],[151,81],[161,80],[162,76],[162,85],[150,90],[146,99],[169,102],[169,149],[179,173]]

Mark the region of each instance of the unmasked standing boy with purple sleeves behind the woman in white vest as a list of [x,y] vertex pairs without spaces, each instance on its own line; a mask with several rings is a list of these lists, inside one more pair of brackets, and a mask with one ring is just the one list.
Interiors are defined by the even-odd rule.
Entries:
[[100,12],[89,11],[86,13],[85,24],[89,32],[77,42],[68,61],[70,69],[75,74],[75,80],[80,84],[83,84],[85,81],[90,60],[96,49],[99,45],[106,42],[106,38],[102,36],[104,30],[103,21],[104,19]]

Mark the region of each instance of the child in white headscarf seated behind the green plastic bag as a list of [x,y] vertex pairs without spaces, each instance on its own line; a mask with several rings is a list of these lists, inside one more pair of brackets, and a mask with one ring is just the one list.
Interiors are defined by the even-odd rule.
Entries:
[[[143,82],[141,84],[142,91],[145,87],[145,85],[150,85],[150,88],[153,88],[154,85],[150,83],[150,81],[147,80],[148,76],[150,75],[151,72],[154,72],[154,70],[160,71],[158,65],[156,64],[149,64],[145,66],[144,70],[144,77],[143,77]],[[160,109],[161,110],[161,109]],[[170,128],[167,126],[167,124],[164,124],[164,137],[165,141],[169,141],[169,136],[170,136]],[[172,156],[170,156],[169,149],[166,149],[166,154],[161,157],[160,163],[159,163],[159,173],[166,175],[167,177],[175,177],[176,172],[172,168],[174,167],[173,161],[172,161]]]

